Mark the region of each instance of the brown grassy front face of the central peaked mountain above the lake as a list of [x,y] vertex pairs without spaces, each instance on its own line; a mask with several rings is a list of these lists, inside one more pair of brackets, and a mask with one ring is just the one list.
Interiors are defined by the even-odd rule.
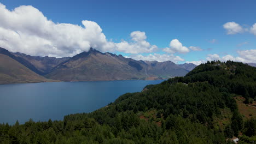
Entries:
[[89,56],[71,59],[46,75],[50,79],[62,81],[127,80],[143,76],[143,70],[130,67],[126,62],[120,61],[118,56],[102,53],[90,53]]

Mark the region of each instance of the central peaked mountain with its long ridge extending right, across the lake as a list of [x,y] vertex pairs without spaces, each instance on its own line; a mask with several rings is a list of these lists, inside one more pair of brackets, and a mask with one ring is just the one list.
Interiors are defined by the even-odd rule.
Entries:
[[46,77],[61,81],[104,81],[167,78],[188,73],[173,62],[144,62],[95,49],[61,63]]

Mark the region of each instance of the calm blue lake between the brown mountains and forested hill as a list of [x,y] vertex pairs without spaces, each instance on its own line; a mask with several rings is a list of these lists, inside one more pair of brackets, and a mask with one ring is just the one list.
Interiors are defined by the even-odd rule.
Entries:
[[127,92],[140,92],[156,81],[45,82],[0,85],[0,123],[62,120],[71,113],[88,113]]

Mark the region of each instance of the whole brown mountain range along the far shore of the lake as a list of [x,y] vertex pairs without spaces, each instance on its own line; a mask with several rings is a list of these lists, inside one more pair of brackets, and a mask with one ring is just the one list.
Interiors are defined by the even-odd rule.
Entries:
[[[102,53],[92,48],[88,52],[63,58],[30,56],[20,52],[13,53],[1,47],[0,53],[0,83],[54,80],[155,80],[184,76],[196,67],[192,63],[177,65],[171,61],[136,61],[109,52]],[[9,61],[8,65],[4,64]],[[16,74],[9,73],[14,71]],[[27,80],[24,78],[18,79],[21,75],[27,77]],[[10,77],[11,81],[9,81]]]

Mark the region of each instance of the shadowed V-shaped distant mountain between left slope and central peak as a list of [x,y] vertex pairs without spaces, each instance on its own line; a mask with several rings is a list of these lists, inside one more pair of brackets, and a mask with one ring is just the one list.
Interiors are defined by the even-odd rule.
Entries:
[[51,72],[54,67],[59,65],[62,62],[67,61],[70,57],[56,58],[56,57],[39,57],[39,56],[30,56],[24,53],[16,52],[12,53],[16,57],[21,57],[26,59],[26,61],[30,62],[37,68],[40,75],[45,75]]

